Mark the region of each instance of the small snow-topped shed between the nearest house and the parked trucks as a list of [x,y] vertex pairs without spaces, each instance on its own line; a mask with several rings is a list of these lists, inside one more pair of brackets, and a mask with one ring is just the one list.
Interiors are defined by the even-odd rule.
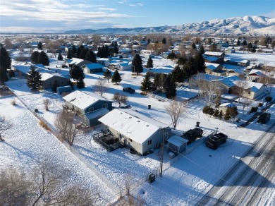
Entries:
[[186,150],[188,140],[182,138],[178,135],[173,135],[171,138],[167,140],[168,144],[168,152],[174,152],[176,154],[181,154]]

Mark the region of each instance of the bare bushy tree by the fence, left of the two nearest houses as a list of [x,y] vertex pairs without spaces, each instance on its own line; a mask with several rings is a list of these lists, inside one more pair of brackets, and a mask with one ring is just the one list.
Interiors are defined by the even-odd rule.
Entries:
[[66,140],[69,145],[73,145],[75,137],[78,135],[79,130],[73,122],[75,113],[67,110],[61,111],[56,115],[54,125],[59,130],[61,138]]

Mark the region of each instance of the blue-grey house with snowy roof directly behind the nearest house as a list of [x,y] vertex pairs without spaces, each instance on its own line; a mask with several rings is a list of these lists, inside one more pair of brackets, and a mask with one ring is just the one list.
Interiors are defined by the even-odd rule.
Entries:
[[78,118],[87,126],[100,124],[99,118],[112,109],[112,101],[103,99],[93,92],[75,91],[63,97],[66,109],[78,114]]

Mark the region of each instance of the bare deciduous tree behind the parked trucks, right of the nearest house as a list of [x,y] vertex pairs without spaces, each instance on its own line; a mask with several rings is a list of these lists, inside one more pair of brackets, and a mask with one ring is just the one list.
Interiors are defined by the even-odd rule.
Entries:
[[176,128],[179,119],[183,116],[184,112],[186,111],[183,103],[181,102],[170,102],[169,105],[165,106],[165,110],[171,117],[173,127]]

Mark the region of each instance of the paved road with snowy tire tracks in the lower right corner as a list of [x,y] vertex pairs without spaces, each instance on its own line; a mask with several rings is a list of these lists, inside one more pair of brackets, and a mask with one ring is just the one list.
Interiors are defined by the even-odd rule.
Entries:
[[267,205],[275,191],[275,123],[197,205]]

